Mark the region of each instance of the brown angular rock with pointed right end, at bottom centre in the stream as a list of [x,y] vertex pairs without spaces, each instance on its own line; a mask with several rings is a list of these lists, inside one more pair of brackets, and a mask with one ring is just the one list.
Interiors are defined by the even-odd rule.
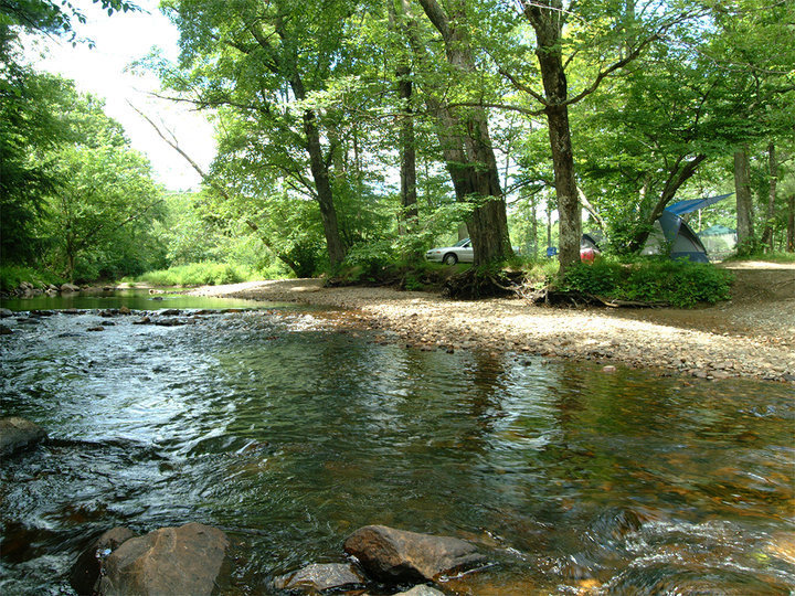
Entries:
[[475,545],[452,536],[417,534],[385,525],[365,525],[344,541],[346,553],[382,582],[424,582],[479,565]]

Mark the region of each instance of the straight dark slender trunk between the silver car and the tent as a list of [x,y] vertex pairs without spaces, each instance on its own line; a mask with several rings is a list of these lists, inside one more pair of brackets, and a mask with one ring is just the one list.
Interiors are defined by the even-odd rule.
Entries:
[[564,18],[559,0],[529,2],[524,15],[536,31],[536,56],[541,68],[555,193],[559,213],[559,260],[561,270],[580,263],[582,212],[574,179],[574,156],[569,126],[569,107],[565,100],[569,86],[561,53],[561,34]]

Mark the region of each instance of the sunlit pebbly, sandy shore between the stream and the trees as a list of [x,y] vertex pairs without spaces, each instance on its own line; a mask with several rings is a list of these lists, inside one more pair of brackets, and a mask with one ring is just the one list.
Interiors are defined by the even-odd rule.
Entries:
[[795,385],[795,291],[788,289],[795,266],[775,273],[776,285],[762,284],[776,291],[749,290],[753,285],[743,283],[731,302],[695,310],[575,310],[504,298],[458,301],[391,288],[327,288],[319,279],[208,286],[191,294],[349,309],[358,324],[390,331],[395,341],[423,349],[507,351]]

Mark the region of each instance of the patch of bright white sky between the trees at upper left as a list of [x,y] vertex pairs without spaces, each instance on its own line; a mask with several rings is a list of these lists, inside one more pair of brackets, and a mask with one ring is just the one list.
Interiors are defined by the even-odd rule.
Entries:
[[73,0],[73,3],[87,18],[85,24],[74,23],[77,34],[93,40],[96,46],[93,50],[87,44],[72,47],[65,40],[47,39],[35,47],[26,47],[33,66],[75,81],[81,92],[104,97],[106,114],[121,123],[132,147],[149,157],[157,180],[169,190],[197,188],[199,174],[127,105],[129,100],[158,125],[165,123],[193,160],[203,168],[209,166],[215,155],[215,142],[213,128],[205,117],[187,104],[151,97],[149,94],[159,89],[157,76],[125,72],[155,45],[168,58],[176,60],[177,28],[158,11],[157,0],[136,1],[146,12],[118,12],[113,17],[91,0]]

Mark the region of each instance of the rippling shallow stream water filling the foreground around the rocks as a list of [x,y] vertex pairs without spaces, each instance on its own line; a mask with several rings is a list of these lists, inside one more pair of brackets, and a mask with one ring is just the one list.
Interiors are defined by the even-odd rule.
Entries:
[[0,415],[50,438],[2,461],[0,593],[70,594],[102,531],[190,521],[233,539],[223,593],[277,594],[372,523],[475,542],[490,565],[449,594],[795,586],[792,386],[418,351],[266,306],[2,320]]

